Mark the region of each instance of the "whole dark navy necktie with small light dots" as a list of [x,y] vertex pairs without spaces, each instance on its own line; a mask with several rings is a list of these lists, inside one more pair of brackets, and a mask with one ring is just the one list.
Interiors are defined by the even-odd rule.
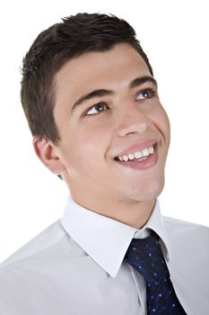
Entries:
[[186,314],[170,281],[169,269],[155,232],[148,238],[133,238],[126,251],[125,261],[144,276],[147,315]]

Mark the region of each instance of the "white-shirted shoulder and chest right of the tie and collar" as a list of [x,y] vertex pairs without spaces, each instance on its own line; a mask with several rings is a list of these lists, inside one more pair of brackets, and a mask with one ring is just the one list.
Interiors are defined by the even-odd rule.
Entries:
[[[203,225],[164,217],[168,235],[170,277],[188,303],[189,314],[208,308],[209,229]],[[201,306],[199,306],[201,305]]]

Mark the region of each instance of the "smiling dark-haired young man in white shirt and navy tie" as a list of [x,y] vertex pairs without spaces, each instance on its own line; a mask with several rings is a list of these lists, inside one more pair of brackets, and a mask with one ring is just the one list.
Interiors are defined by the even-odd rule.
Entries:
[[2,264],[1,314],[206,314],[209,232],[161,216],[170,123],[133,28],[77,14],[41,32],[22,106],[71,198]]

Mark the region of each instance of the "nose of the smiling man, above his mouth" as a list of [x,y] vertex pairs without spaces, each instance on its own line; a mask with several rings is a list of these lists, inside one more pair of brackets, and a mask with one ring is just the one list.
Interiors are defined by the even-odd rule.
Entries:
[[118,114],[119,137],[126,137],[128,134],[144,133],[150,125],[149,118],[141,112],[136,103],[126,102],[120,106]]

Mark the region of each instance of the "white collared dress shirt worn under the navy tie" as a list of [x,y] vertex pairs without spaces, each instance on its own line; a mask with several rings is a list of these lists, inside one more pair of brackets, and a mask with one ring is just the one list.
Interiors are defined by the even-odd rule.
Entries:
[[144,278],[123,261],[133,237],[153,229],[187,315],[209,314],[209,229],[161,216],[143,229],[84,209],[64,216],[0,267],[1,315],[144,315]]

